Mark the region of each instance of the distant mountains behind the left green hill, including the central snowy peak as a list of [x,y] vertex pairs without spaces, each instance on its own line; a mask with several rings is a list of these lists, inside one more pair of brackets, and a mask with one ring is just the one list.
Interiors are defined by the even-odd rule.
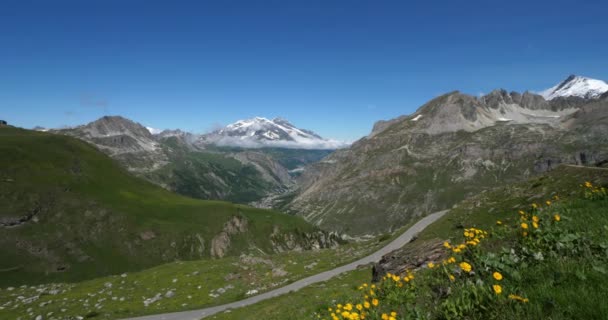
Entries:
[[[335,143],[284,119],[241,120],[209,134],[149,128],[120,116],[51,132],[95,145],[132,173],[199,199],[259,201],[293,188],[304,165]],[[312,147],[323,147],[312,149]]]

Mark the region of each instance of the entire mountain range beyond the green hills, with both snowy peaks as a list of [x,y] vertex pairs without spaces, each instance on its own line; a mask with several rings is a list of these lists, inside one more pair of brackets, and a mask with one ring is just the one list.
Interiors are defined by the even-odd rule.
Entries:
[[560,163],[605,161],[607,92],[605,82],[581,76],[540,94],[454,91],[413,114],[376,122],[350,147],[263,117],[204,135],[152,134],[121,117],[56,132],[93,143],[180,194],[276,207],[359,236],[393,230]]

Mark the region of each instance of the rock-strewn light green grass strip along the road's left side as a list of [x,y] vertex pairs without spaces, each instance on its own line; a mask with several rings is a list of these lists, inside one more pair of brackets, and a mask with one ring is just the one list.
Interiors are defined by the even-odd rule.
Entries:
[[[114,275],[79,283],[18,286],[10,290],[5,287],[0,290],[0,307],[3,308],[0,319],[32,318],[50,312],[63,318],[96,312],[96,319],[117,319],[219,305],[243,299],[249,290],[261,293],[351,262],[377,250],[387,241],[374,239],[334,249],[274,255],[258,252],[250,256],[253,258],[180,261],[128,273],[125,277]],[[285,274],[273,274],[273,269],[280,269]],[[219,288],[225,288],[225,293],[218,294]],[[175,295],[164,297],[169,290]],[[163,298],[145,306],[145,298],[157,293]],[[18,299],[19,296],[26,301],[31,297],[39,298],[28,303]]]

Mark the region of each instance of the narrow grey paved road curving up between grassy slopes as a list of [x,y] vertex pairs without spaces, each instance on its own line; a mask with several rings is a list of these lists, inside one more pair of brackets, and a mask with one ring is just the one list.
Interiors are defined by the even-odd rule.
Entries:
[[129,319],[124,319],[124,320],[199,320],[201,318],[205,318],[210,315],[214,315],[216,313],[219,313],[219,312],[222,312],[222,311],[225,311],[228,309],[235,309],[235,308],[248,306],[248,305],[251,305],[251,304],[266,300],[266,299],[274,298],[274,297],[280,296],[282,294],[289,293],[291,291],[297,291],[297,290],[302,289],[313,283],[327,281],[341,273],[355,270],[360,265],[366,265],[366,264],[369,264],[372,262],[380,261],[380,259],[382,258],[383,255],[385,255],[393,250],[403,247],[403,245],[410,242],[416,234],[418,234],[420,231],[422,231],[424,228],[426,228],[431,223],[437,221],[437,219],[441,218],[446,212],[447,212],[447,210],[439,211],[439,212],[435,212],[433,214],[430,214],[430,215],[422,218],[420,221],[416,222],[416,224],[414,224],[412,227],[407,229],[407,231],[405,231],[397,239],[393,240],[391,243],[389,243],[382,249],[374,252],[373,254],[371,254],[365,258],[359,259],[355,262],[351,262],[347,265],[337,267],[332,270],[328,270],[328,271],[316,274],[314,276],[310,276],[310,277],[298,280],[298,281],[288,284],[284,287],[277,288],[272,291],[268,291],[268,292],[265,292],[265,293],[259,294],[257,296],[247,298],[247,299],[243,299],[243,300],[239,300],[239,301],[235,301],[232,303],[227,303],[227,304],[223,304],[223,305],[219,305],[219,306],[215,306],[215,307],[209,307],[209,308],[205,308],[205,309],[191,310],[191,311],[156,314],[156,315],[149,315],[149,316],[143,316],[143,317],[137,317],[137,318],[129,318]]

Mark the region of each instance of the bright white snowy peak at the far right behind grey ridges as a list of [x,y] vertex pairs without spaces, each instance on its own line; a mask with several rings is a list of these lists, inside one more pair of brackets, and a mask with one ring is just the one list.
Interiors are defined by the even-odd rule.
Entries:
[[593,99],[608,91],[608,83],[602,80],[571,75],[558,85],[539,92],[546,100],[557,97],[580,97]]

